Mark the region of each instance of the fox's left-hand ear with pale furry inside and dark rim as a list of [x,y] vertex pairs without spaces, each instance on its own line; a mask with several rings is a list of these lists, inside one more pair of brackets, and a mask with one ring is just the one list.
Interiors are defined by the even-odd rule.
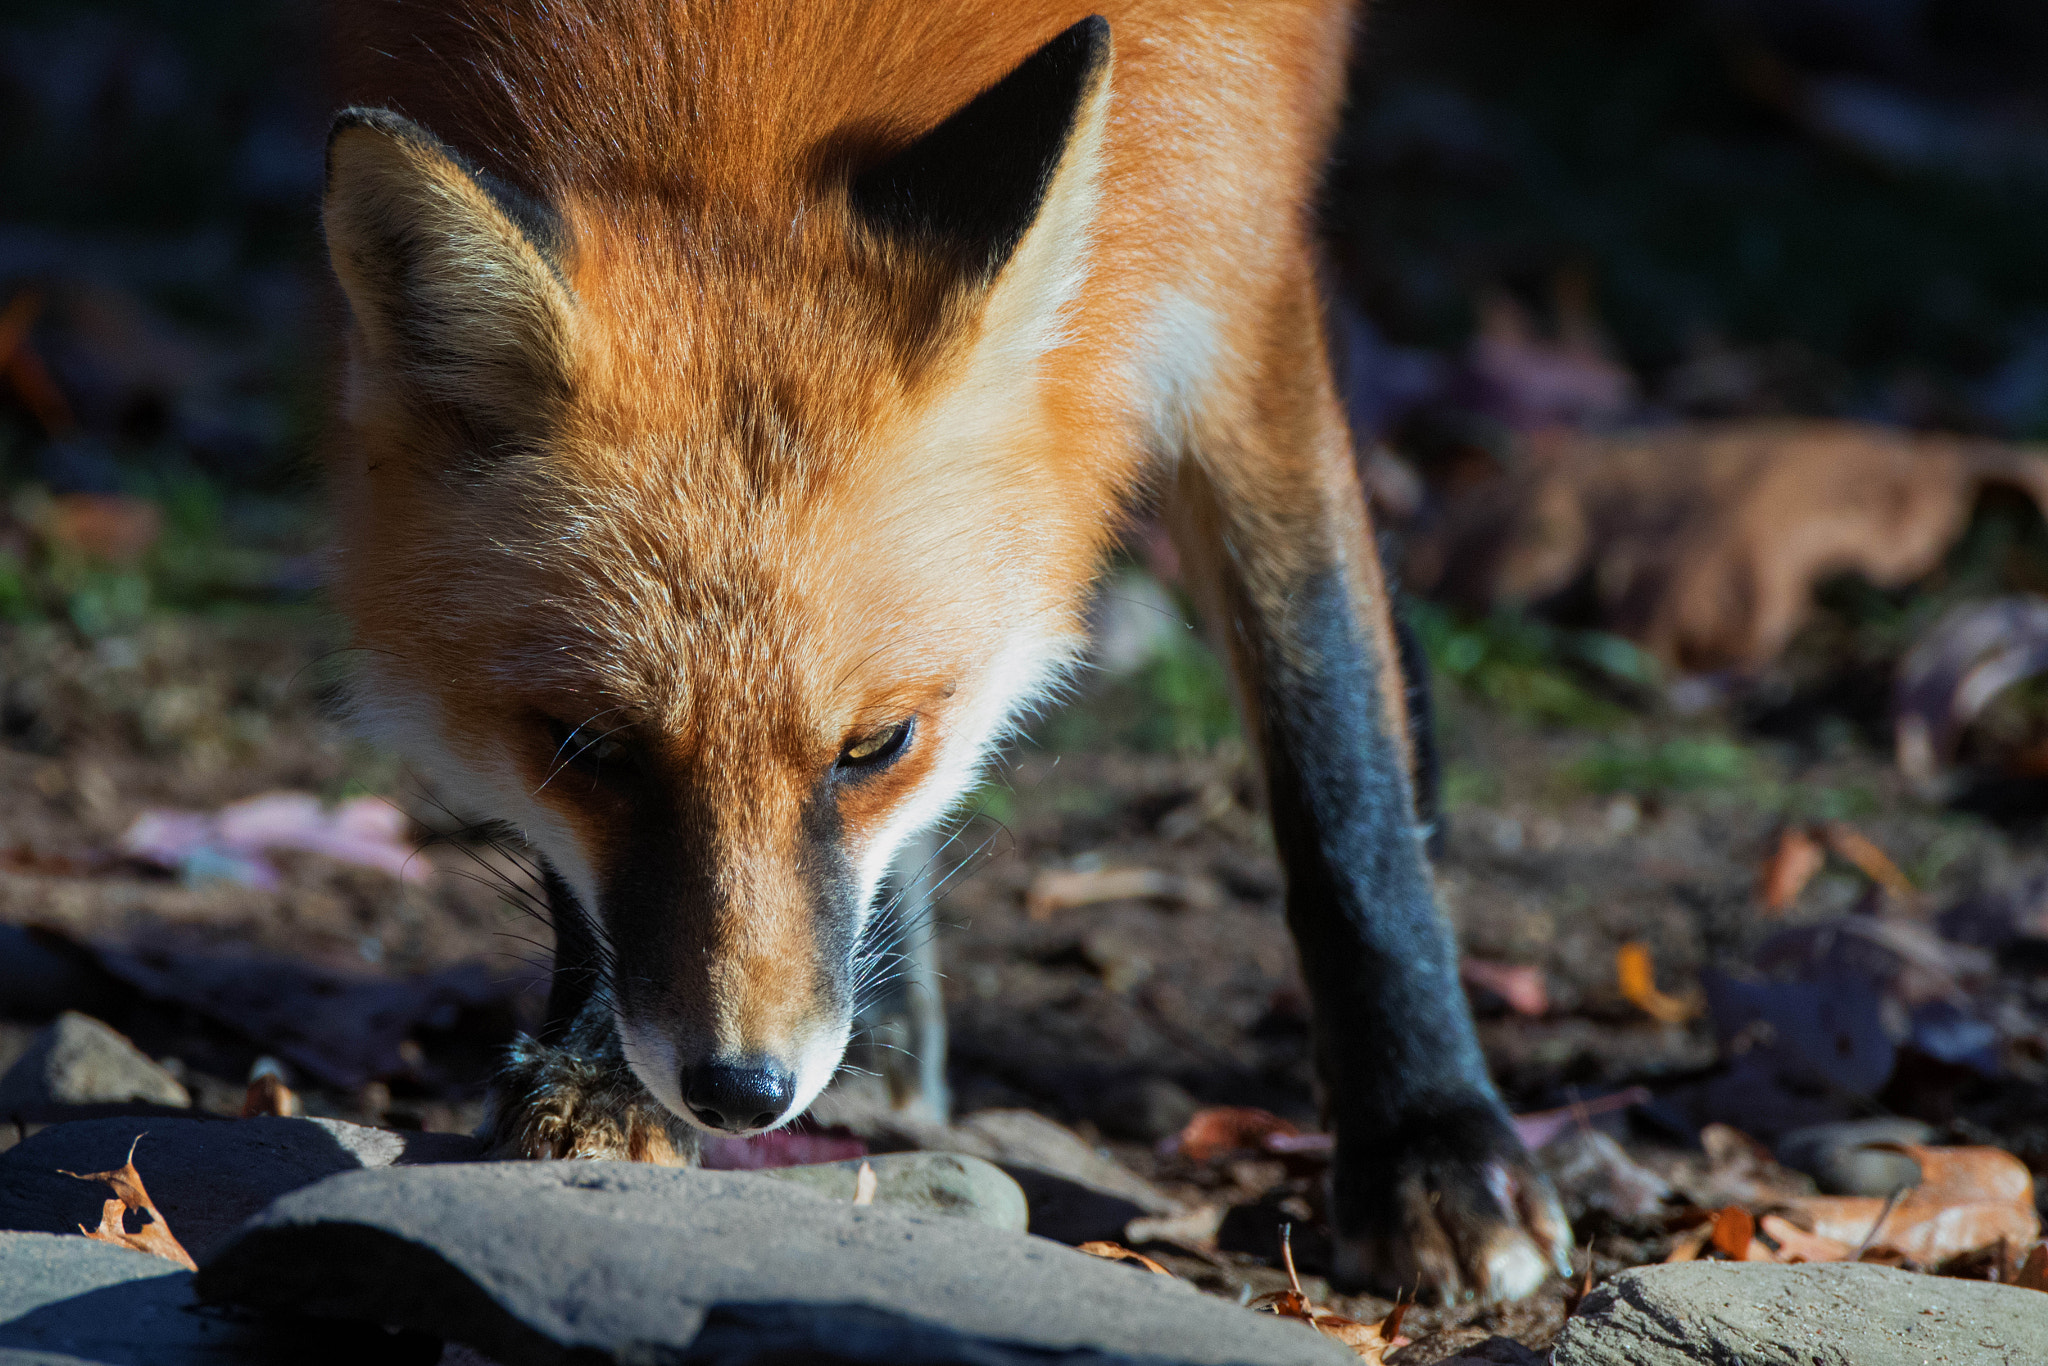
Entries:
[[416,123],[350,109],[328,137],[324,219],[379,381],[494,436],[547,420],[569,387],[575,303],[543,211]]

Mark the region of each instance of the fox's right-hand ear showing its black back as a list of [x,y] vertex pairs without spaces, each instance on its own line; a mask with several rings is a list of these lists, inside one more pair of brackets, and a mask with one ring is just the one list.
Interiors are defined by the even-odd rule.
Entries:
[[1094,152],[1077,143],[1090,141],[1087,115],[1106,94],[1108,72],[1110,23],[1096,14],[856,176],[854,209],[885,231],[956,256],[977,281],[993,279],[1044,209],[1061,164]]

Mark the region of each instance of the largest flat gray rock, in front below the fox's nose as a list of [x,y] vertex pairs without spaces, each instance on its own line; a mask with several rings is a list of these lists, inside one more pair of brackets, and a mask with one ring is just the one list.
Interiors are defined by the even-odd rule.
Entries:
[[506,1366],[1354,1362],[1305,1325],[1028,1235],[604,1161],[328,1178],[236,1233],[199,1292],[397,1323]]

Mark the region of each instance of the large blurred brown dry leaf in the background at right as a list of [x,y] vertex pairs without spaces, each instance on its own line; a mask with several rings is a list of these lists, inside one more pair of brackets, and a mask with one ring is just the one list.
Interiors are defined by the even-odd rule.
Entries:
[[1530,438],[1417,537],[1409,584],[1466,606],[1593,584],[1599,625],[1683,672],[1769,664],[1821,580],[1933,569],[1987,483],[2048,506],[2048,461],[1851,422],[1716,422]]

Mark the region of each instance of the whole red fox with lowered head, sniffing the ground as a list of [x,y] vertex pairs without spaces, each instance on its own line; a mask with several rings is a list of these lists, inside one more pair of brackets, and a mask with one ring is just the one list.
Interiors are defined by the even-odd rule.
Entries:
[[328,147],[336,592],[367,723],[545,862],[496,1151],[801,1114],[891,858],[1157,500],[1264,760],[1339,1280],[1569,1270],[1436,907],[1325,356],[1352,6],[422,8],[362,0]]

